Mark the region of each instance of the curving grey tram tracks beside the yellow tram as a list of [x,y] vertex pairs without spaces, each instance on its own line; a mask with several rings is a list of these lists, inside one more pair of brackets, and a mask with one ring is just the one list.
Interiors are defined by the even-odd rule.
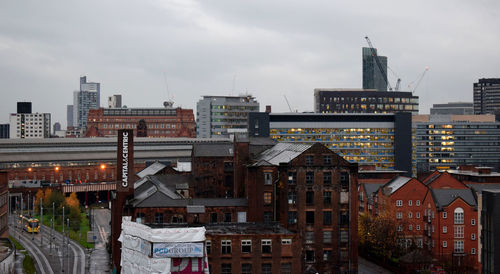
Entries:
[[39,233],[23,231],[16,216],[11,215],[11,233],[34,258],[37,273],[86,273],[85,251],[78,243],[70,240],[66,244],[61,233],[51,233],[47,226],[42,226]]

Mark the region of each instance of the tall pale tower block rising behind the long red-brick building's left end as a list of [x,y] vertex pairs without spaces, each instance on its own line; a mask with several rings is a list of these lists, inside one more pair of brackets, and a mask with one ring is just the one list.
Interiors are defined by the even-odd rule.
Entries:
[[87,77],[80,77],[80,90],[73,92],[73,126],[82,131],[87,126],[90,109],[100,106],[101,84],[87,82]]

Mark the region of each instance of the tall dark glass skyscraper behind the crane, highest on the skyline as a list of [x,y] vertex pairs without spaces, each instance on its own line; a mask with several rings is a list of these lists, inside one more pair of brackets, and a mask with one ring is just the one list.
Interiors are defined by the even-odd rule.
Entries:
[[[377,49],[375,49],[375,52],[377,52]],[[379,55],[378,58],[384,73],[380,72],[370,48],[363,48],[363,89],[387,91],[387,57]]]

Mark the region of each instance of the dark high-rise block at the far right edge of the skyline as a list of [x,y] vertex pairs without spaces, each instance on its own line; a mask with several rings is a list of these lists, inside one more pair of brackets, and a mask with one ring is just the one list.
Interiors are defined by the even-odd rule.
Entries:
[[474,83],[474,114],[500,110],[500,78],[482,78]]

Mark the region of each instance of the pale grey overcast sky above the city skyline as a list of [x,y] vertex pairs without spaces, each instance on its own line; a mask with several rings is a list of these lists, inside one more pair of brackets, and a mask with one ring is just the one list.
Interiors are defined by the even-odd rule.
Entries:
[[[368,35],[415,94],[472,101],[500,77],[500,1],[1,1],[0,122],[17,101],[66,126],[79,77],[101,104],[193,108],[202,95],[257,97],[261,110],[313,110],[314,88],[361,88]],[[165,81],[166,79],[166,81]],[[389,74],[395,85],[396,78]],[[168,86],[168,88],[167,88]]]

